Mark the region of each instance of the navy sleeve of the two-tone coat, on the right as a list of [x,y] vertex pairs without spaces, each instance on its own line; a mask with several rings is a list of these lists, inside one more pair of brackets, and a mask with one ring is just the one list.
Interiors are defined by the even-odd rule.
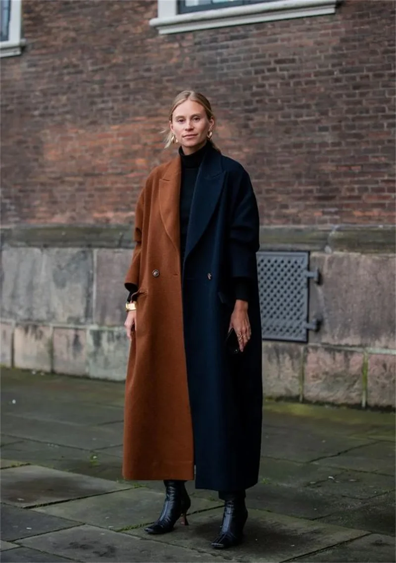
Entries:
[[232,212],[228,240],[232,278],[256,279],[259,224],[257,200],[252,182],[248,173],[243,170]]

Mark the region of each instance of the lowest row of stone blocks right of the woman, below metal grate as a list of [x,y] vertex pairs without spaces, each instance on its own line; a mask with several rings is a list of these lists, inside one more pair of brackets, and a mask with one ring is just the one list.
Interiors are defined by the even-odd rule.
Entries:
[[267,398],[395,408],[393,350],[263,342]]

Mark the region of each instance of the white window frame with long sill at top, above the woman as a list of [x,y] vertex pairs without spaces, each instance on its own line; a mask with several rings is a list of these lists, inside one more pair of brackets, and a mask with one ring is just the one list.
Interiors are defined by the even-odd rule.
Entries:
[[158,0],[158,16],[150,20],[160,35],[222,28],[228,25],[255,24],[262,21],[334,14],[339,0],[263,0],[244,6],[212,8],[178,14],[177,0]]

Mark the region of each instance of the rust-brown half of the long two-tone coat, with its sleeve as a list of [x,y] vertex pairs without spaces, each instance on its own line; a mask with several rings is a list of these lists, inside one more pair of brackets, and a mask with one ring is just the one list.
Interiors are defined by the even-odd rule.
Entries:
[[139,294],[125,387],[126,479],[193,479],[179,252],[180,180],[177,157],[153,170],[137,203],[136,246],[125,279],[137,285]]

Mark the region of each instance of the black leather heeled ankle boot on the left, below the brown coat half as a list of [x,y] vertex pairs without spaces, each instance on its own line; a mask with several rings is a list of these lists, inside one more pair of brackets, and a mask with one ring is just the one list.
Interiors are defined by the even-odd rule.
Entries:
[[167,534],[173,530],[175,522],[182,516],[183,524],[188,526],[187,511],[191,506],[190,497],[184,481],[164,481],[166,487],[165,503],[159,519],[144,528],[148,534]]

